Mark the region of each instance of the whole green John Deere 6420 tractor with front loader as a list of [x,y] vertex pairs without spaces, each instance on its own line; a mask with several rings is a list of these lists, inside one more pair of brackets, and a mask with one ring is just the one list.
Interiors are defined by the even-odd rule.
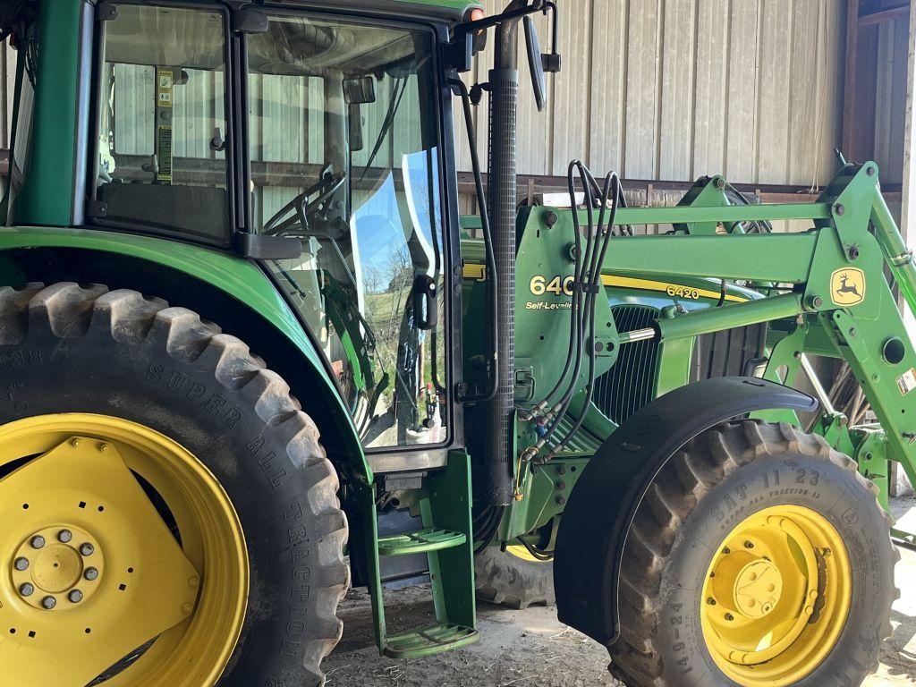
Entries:
[[[351,583],[393,658],[473,643],[479,588],[555,598],[629,687],[874,670],[909,536],[890,463],[916,482],[916,267],[878,168],[650,208],[573,161],[567,207],[518,206],[518,55],[542,105],[558,14],[0,4],[5,685],[315,687]],[[435,623],[388,633],[416,582]]]

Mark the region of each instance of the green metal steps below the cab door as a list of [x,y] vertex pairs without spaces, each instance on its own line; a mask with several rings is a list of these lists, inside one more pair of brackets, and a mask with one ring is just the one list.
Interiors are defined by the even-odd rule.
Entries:
[[[416,659],[473,644],[479,638],[474,607],[474,531],[471,520],[470,457],[449,453],[448,465],[426,478],[429,496],[420,502],[423,527],[378,537],[375,494],[361,487],[365,513],[367,561],[376,643],[393,659]],[[380,557],[425,553],[430,566],[436,622],[397,635],[387,635]]]

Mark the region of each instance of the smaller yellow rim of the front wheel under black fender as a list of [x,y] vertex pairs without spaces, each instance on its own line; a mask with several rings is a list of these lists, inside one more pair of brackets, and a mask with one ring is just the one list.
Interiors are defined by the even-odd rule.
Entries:
[[852,600],[849,554],[822,515],[769,507],[715,553],[701,599],[703,638],[742,687],[784,687],[834,649]]

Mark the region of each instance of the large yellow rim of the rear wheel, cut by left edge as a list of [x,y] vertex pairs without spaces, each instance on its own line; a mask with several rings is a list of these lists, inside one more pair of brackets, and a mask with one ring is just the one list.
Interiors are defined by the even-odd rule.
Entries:
[[0,503],[5,685],[213,687],[241,634],[248,561],[195,456],[127,420],[17,420],[0,427]]

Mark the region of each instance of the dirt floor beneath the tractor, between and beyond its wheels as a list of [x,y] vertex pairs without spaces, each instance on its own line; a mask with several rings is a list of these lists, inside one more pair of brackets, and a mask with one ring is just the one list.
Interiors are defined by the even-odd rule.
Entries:
[[[894,516],[916,531],[916,501],[899,500]],[[902,592],[894,605],[894,635],[866,687],[916,685],[916,551],[902,551],[897,568]],[[906,582],[909,581],[909,585]],[[391,631],[431,617],[429,590],[388,592]],[[352,591],[342,607],[344,639],[325,660],[329,687],[620,687],[607,673],[607,652],[557,622],[554,608],[507,610],[481,603],[481,641],[468,649],[423,660],[379,658],[373,645],[368,596]],[[534,659],[534,660],[532,660]]]

